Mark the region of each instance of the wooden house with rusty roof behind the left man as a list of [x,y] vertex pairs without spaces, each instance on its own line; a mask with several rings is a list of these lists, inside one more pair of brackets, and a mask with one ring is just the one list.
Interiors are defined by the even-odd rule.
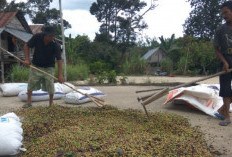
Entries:
[[[32,31],[20,11],[0,12],[0,47],[24,59],[23,45],[32,37]],[[12,63],[18,61],[12,56],[0,51],[1,81],[4,82],[4,74]]]

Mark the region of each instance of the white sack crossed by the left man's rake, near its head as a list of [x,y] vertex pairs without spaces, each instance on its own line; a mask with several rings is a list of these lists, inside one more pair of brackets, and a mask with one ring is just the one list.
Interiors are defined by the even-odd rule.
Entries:
[[[83,87],[77,90],[84,94],[89,94],[97,98],[102,98],[105,96],[104,93],[92,87]],[[81,103],[89,102],[91,101],[91,99],[89,99],[85,95],[82,95],[76,91],[73,91],[73,92],[66,94],[66,96],[64,97],[64,101],[70,104],[81,104]]]

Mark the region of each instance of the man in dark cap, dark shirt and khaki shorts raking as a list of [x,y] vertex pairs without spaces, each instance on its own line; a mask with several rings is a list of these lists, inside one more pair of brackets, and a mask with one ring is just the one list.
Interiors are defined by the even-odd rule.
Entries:
[[[30,66],[30,53],[29,49],[34,48],[34,54],[32,59],[32,65],[45,71],[51,75],[55,74],[55,60],[58,64],[58,81],[64,82],[62,75],[62,58],[61,49],[59,45],[54,41],[55,29],[52,26],[46,26],[43,28],[42,33],[35,34],[25,45],[24,55],[26,66]],[[50,76],[38,72],[34,69],[30,69],[30,76],[27,88],[27,104],[23,105],[23,108],[31,107],[31,95],[33,90],[41,89],[49,93],[49,106],[53,104],[54,95],[54,80]]]

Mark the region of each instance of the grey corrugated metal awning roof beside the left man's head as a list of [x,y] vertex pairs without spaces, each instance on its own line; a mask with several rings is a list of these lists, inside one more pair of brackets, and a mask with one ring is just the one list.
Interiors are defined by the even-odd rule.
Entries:
[[13,28],[5,28],[4,31],[10,33],[11,35],[15,36],[18,39],[21,39],[24,42],[28,42],[32,37],[32,34],[30,33],[21,30],[16,30]]

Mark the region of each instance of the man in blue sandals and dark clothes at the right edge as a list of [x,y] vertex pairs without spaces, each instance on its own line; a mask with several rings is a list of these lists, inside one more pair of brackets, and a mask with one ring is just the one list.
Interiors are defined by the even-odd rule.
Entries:
[[232,102],[232,73],[229,72],[229,69],[232,68],[232,1],[226,1],[222,4],[221,14],[226,23],[216,31],[214,49],[216,56],[221,61],[221,70],[227,73],[219,77],[219,95],[223,98],[224,104],[215,115],[222,120],[219,125],[227,126],[231,123],[229,110]]

